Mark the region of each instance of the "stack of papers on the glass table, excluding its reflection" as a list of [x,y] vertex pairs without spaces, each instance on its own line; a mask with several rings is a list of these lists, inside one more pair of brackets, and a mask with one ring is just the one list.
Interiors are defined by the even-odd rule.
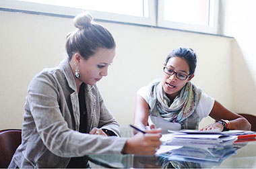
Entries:
[[163,145],[188,146],[193,148],[218,148],[229,146],[236,141],[236,135],[222,134],[216,131],[170,131],[161,137]]

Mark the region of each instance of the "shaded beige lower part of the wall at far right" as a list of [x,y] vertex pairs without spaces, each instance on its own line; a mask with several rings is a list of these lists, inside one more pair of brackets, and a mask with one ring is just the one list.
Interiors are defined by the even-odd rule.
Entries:
[[232,41],[231,57],[233,111],[256,115],[256,84],[235,39]]

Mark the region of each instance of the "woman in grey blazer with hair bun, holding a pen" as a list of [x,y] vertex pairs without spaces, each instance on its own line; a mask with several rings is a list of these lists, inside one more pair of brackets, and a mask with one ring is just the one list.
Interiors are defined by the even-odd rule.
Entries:
[[87,154],[152,155],[160,147],[160,129],[120,137],[119,123],[96,86],[108,75],[115,40],[89,14],[77,15],[74,25],[67,58],[30,82],[22,144],[9,168],[87,168]]

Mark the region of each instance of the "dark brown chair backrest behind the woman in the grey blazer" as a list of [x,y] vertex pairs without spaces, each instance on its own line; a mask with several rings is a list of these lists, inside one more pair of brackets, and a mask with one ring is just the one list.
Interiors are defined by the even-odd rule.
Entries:
[[21,143],[21,129],[4,129],[0,131],[0,168],[9,166],[15,150]]

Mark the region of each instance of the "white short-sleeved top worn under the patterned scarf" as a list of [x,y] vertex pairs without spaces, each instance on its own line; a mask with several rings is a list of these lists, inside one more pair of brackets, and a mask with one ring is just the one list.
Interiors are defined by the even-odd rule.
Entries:
[[[141,87],[141,89],[137,91],[137,95],[143,97],[143,99],[147,103],[149,103],[151,98],[149,86]],[[214,101],[215,101],[214,98],[206,95],[205,93],[201,93],[199,103],[196,107],[196,112],[197,112],[197,115],[199,116],[199,121],[201,121],[204,117],[207,117],[210,114],[210,112],[212,111],[212,108],[214,107]],[[148,118],[148,123],[149,125],[154,123],[154,125],[156,125],[157,128],[161,127],[163,131],[162,133],[166,133],[168,129],[171,129],[171,130],[181,129],[181,125],[179,123],[172,123],[172,125],[170,125],[169,121],[166,121],[160,117],[156,117],[152,115],[150,115],[150,117]]]

